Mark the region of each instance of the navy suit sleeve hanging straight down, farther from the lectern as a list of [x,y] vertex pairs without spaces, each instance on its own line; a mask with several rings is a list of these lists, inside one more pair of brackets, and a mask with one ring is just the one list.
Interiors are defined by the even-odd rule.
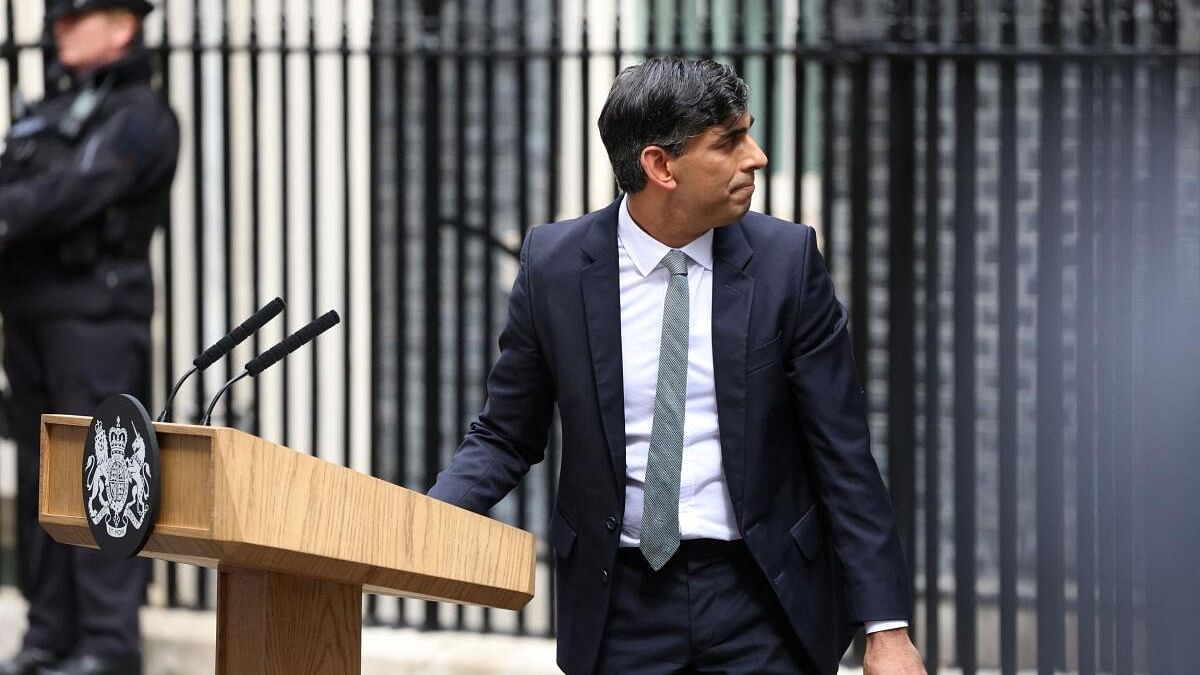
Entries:
[[787,375],[812,449],[821,502],[856,622],[907,620],[912,601],[904,552],[887,488],[871,455],[848,313],[834,297],[811,229],[805,239],[800,310]]

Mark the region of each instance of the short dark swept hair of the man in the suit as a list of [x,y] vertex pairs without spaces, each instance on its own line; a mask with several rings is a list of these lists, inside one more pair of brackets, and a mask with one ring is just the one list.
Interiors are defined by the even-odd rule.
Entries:
[[600,138],[617,185],[641,192],[643,148],[659,145],[678,157],[689,139],[745,114],[749,98],[738,73],[715,61],[659,56],[625,68],[600,110]]

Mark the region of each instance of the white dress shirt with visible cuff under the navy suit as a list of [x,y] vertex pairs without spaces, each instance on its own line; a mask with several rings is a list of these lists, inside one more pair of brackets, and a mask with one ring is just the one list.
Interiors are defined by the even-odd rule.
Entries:
[[[625,394],[625,516],[620,545],[636,546],[642,532],[646,459],[659,380],[662,303],[670,273],[662,258],[671,247],[646,233],[629,214],[629,197],[617,216],[617,275],[620,285],[620,356]],[[679,470],[679,537],[740,539],[721,465],[713,378],[713,231],[679,249],[688,256],[688,395],[684,402],[683,462]],[[902,628],[907,621],[868,621],[866,632]]]

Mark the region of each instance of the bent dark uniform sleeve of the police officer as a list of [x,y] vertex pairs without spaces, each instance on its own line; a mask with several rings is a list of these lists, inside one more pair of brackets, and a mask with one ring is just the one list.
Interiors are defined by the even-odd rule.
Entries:
[[130,106],[79,143],[70,162],[0,187],[0,240],[53,239],[174,172],[179,129],[157,107]]

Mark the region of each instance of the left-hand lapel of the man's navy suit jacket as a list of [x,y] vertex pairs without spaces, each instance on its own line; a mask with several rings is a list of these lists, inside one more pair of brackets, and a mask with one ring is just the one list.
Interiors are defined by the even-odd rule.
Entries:
[[583,243],[580,285],[600,420],[608,441],[616,488],[624,498],[625,381],[620,356],[620,282],[617,276],[618,199],[600,211]]

